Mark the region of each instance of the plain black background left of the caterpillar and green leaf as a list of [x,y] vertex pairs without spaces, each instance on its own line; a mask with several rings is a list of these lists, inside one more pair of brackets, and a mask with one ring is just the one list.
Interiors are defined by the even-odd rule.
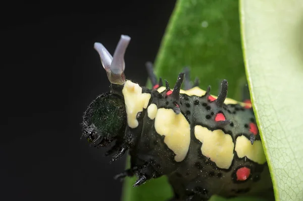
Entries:
[[105,150],[80,140],[82,113],[109,81],[93,43],[113,54],[132,37],[126,78],[146,83],[175,1],[19,3],[2,6],[2,200],[119,200]]

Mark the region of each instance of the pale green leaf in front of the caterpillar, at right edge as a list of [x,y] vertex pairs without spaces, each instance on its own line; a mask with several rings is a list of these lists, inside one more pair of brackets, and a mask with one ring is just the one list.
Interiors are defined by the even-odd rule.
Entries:
[[252,103],[276,200],[303,200],[303,2],[241,1]]

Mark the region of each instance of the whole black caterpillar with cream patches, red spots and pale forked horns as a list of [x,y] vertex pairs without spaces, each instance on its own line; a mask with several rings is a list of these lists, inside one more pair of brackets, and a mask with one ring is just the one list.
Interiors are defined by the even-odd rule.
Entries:
[[[249,102],[227,98],[228,82],[218,96],[191,84],[189,70],[173,88],[165,86],[146,63],[152,89],[125,79],[124,54],[130,37],[121,35],[114,56],[94,43],[111,83],[83,115],[82,135],[91,146],[115,144],[110,163],[130,155],[130,169],[116,179],[137,176],[139,186],[163,175],[174,191],[171,200],[208,200],[263,195],[272,188],[268,165]],[[181,85],[184,81],[184,89]]]

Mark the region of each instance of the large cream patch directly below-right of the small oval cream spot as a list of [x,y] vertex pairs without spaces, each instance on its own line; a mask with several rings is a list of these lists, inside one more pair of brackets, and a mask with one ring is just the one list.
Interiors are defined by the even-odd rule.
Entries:
[[165,136],[164,143],[175,154],[175,161],[183,161],[190,144],[190,125],[182,113],[159,108],[155,118],[155,129]]

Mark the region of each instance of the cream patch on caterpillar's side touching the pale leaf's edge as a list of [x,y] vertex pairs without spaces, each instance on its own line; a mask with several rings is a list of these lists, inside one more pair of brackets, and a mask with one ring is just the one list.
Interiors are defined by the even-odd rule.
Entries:
[[264,164],[266,162],[260,140],[256,140],[254,144],[251,145],[250,140],[248,140],[245,136],[239,136],[236,140],[235,151],[237,152],[239,158],[246,156],[248,159],[259,164]]

